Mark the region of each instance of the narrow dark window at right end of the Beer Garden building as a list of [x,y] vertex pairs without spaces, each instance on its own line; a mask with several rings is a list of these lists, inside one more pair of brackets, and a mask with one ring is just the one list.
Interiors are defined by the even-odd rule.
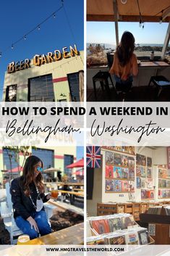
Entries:
[[72,73],[67,76],[72,102],[80,102],[79,73]]

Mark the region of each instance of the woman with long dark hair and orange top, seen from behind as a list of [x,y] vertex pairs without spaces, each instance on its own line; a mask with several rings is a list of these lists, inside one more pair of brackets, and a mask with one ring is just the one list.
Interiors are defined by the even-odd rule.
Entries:
[[114,54],[114,63],[110,73],[114,74],[116,89],[129,91],[132,86],[133,75],[137,75],[137,57],[133,53],[135,49],[135,38],[132,33],[125,31],[121,42]]

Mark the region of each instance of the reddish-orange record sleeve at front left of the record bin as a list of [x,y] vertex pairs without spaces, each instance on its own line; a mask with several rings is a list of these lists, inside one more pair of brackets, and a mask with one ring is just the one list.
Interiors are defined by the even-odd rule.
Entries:
[[106,234],[110,232],[109,221],[107,219],[90,220],[90,223],[92,228],[94,228],[98,234]]

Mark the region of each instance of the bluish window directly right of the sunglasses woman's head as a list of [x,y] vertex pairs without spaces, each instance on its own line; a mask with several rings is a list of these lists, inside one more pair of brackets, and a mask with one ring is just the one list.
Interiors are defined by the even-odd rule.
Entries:
[[54,150],[32,149],[32,154],[43,162],[43,170],[54,167]]

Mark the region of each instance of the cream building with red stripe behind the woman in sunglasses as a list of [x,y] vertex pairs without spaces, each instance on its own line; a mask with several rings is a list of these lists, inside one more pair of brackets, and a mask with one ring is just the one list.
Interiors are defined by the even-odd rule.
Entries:
[[[59,147],[30,147],[28,149],[30,154],[39,157],[43,161],[43,170],[48,168],[56,168],[56,172],[51,172],[51,178],[56,178],[67,175],[72,177],[74,170],[67,169],[67,165],[75,162],[76,147],[75,146],[59,146]],[[7,149],[5,146],[0,148],[0,183],[2,186],[12,178],[19,176],[19,172],[14,169],[18,169],[18,165],[23,166],[26,157],[22,153],[19,154],[19,159],[16,160],[16,154],[12,150]],[[14,170],[12,173],[9,170]],[[48,175],[45,176],[47,178]]]

